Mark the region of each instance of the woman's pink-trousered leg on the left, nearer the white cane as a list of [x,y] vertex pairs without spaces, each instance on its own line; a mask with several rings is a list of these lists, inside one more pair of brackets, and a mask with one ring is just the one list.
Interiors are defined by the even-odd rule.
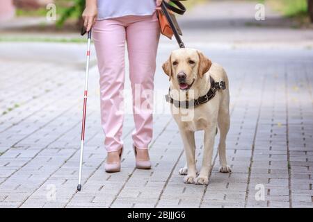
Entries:
[[[122,148],[122,90],[125,80],[125,26],[116,19],[97,21],[93,27],[100,74],[102,128],[106,151]],[[118,156],[118,155],[117,155]],[[109,155],[108,161],[109,162]]]

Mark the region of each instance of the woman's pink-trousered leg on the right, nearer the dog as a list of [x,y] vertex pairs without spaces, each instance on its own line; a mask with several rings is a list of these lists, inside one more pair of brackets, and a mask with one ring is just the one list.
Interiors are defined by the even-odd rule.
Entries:
[[135,121],[132,138],[134,146],[140,150],[147,149],[152,139],[154,72],[160,30],[156,13],[136,16],[129,21],[126,37]]

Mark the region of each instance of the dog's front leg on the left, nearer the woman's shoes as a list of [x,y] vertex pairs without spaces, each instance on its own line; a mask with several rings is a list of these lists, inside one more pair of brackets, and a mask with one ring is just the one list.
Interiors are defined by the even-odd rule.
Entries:
[[180,129],[180,135],[184,143],[184,150],[186,153],[187,172],[184,177],[185,183],[193,183],[197,176],[197,169],[195,168],[195,133],[190,130]]

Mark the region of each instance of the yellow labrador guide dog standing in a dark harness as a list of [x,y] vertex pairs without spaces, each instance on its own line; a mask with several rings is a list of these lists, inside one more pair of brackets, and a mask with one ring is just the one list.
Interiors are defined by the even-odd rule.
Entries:
[[[179,174],[186,175],[185,183],[207,185],[211,172],[214,138],[220,131],[218,152],[220,172],[231,171],[227,165],[225,140],[230,128],[230,92],[228,78],[220,65],[211,62],[196,49],[177,49],[163,64],[170,78],[166,100],[179,127],[186,165]],[[195,167],[195,131],[204,130],[202,167],[197,175]]]

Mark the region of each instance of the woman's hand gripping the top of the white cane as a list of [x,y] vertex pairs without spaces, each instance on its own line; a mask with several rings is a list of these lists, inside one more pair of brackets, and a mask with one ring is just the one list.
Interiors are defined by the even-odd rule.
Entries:
[[97,0],[86,0],[86,8],[83,10],[83,26],[86,27],[86,31],[90,31],[95,20],[97,19]]

